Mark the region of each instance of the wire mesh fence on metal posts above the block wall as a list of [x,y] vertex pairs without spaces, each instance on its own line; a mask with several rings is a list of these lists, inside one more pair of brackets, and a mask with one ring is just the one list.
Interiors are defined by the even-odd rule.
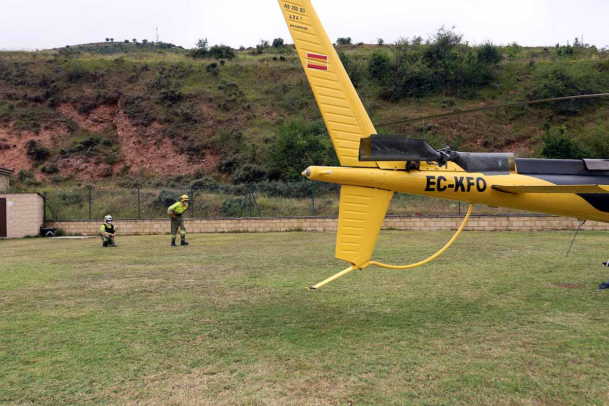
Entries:
[[[191,198],[187,218],[331,216],[339,212],[340,185],[303,181],[210,184],[181,188],[149,187],[60,189],[46,194],[49,220],[161,219],[181,195]],[[466,204],[396,193],[388,215],[462,214]],[[522,211],[477,205],[477,214],[522,214]]]

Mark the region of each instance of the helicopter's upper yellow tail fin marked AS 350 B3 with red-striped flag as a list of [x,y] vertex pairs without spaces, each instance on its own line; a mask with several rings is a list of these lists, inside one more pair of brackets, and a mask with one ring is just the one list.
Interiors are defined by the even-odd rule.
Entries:
[[279,1],[287,27],[342,166],[376,167],[359,162],[359,139],[376,134],[310,0]]

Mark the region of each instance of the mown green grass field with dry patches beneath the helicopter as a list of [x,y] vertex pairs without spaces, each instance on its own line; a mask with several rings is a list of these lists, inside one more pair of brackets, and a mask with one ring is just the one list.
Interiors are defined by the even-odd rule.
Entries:
[[0,240],[0,404],[607,405],[609,233],[571,236],[465,232],[314,292],[333,233]]

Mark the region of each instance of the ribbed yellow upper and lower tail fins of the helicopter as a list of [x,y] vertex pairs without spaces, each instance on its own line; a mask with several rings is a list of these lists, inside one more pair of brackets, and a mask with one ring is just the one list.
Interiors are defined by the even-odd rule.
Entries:
[[[376,130],[311,0],[279,0],[279,5],[340,164],[403,167],[404,163],[359,161],[360,139],[376,134]],[[393,192],[390,191],[341,187],[337,258],[350,262],[353,269],[370,260],[392,197]]]

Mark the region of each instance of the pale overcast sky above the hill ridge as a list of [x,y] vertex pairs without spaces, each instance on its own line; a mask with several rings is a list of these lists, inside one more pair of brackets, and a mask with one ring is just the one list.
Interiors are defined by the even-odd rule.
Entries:
[[[331,40],[392,43],[427,38],[456,26],[470,43],[524,46],[585,43],[609,46],[609,0],[316,0],[313,5]],[[0,49],[45,49],[146,38],[186,48],[197,38],[210,44],[254,46],[261,38],[292,43],[275,0],[0,0]]]

